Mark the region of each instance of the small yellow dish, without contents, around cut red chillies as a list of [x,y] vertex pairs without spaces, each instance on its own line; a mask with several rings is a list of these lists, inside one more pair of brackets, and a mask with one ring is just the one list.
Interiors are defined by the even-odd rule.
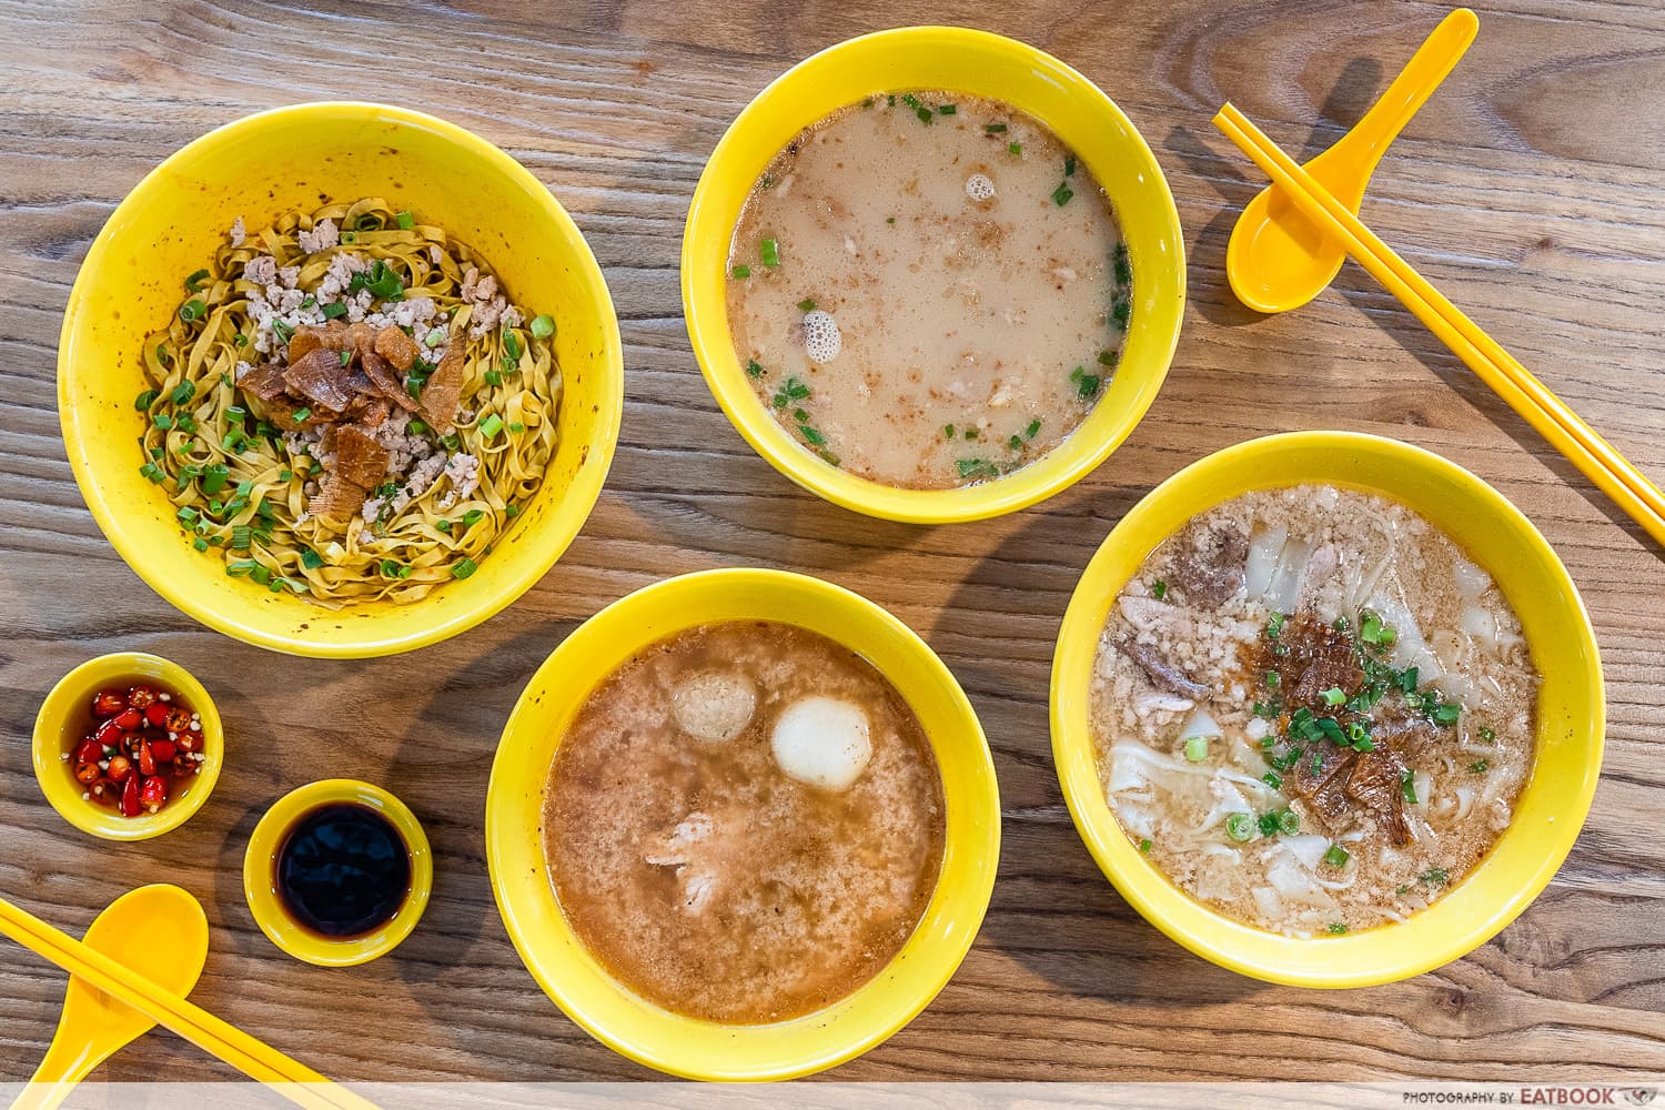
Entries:
[[[117,809],[82,797],[87,792],[75,780],[73,767],[63,759],[73,742],[82,739],[87,724],[87,706],[92,696],[107,686],[132,686],[150,679],[178,691],[203,719],[203,769],[175,794],[168,784],[168,804],[155,814],[123,817]],[[220,727],[220,711],[196,677],[176,662],[138,651],[122,651],[98,656],[75,667],[52,687],[40,712],[35,714],[35,780],[42,794],[67,822],[105,840],[148,840],[170,829],[178,829],[191,814],[203,807],[220,780],[225,762],[225,732]]]

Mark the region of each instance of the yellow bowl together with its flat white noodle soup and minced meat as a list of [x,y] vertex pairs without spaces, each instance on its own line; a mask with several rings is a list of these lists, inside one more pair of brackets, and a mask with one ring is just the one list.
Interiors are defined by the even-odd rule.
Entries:
[[1502,494],[1312,431],[1210,454],[1099,548],[1052,664],[1087,849],[1169,937],[1302,987],[1440,967],[1567,857],[1602,764],[1588,614]]

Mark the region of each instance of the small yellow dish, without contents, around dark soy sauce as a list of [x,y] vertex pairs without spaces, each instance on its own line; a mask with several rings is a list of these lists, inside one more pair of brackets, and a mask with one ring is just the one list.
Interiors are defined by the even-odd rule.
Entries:
[[[290,829],[308,812],[336,802],[353,802],[380,812],[393,822],[411,854],[411,892],[393,920],[363,937],[345,940],[320,937],[296,924],[283,909],[275,889],[278,850]],[[428,849],[428,834],[421,830],[416,814],[380,785],[356,779],[325,779],[290,790],[260,819],[248,837],[248,850],[243,852],[243,899],[260,932],[296,960],[318,967],[356,967],[400,947],[421,920],[431,894],[433,852]]]

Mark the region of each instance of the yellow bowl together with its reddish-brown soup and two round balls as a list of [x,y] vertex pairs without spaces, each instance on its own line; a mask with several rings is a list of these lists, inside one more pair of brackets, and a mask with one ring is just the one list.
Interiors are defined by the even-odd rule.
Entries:
[[591,1035],[674,1075],[774,1080],[936,997],[999,824],[982,727],[907,626],[726,569],[629,594],[538,669],[486,852],[521,960]]

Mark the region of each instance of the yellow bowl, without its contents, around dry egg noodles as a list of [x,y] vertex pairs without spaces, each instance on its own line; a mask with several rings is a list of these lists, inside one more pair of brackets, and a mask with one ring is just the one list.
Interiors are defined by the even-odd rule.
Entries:
[[[180,306],[231,221],[250,231],[323,198],[385,196],[476,248],[531,311],[554,316],[559,448],[538,496],[466,581],[398,606],[328,611],[226,577],[181,538],[166,491],[138,473],[143,338]],[[238,120],[163,161],[115,210],[70,291],[58,346],[63,443],[93,518],[150,586],[203,624],[300,656],[433,644],[504,607],[559,557],[601,491],[623,406],[618,320],[578,228],[519,163],[405,108],[318,103]]]

